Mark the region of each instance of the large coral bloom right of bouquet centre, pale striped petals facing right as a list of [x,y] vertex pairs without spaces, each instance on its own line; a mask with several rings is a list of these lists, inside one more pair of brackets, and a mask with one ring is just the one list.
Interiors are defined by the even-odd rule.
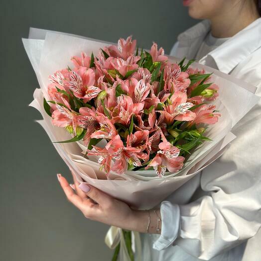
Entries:
[[170,98],[170,104],[163,107],[164,111],[158,111],[163,114],[168,125],[176,121],[193,121],[195,113],[189,111],[194,105],[187,103],[187,95],[182,92],[174,93]]

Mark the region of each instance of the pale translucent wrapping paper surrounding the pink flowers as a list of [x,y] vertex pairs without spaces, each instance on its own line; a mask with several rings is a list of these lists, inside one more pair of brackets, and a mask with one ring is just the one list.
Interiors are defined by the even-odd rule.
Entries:
[[[72,66],[71,56],[80,55],[82,51],[89,55],[93,52],[96,55],[100,48],[112,43],[31,28],[29,38],[23,39],[23,44],[40,85],[40,89],[35,90],[34,100],[30,104],[43,117],[43,120],[37,122],[47,132],[51,141],[69,139],[70,134],[63,128],[53,126],[51,118],[44,111],[43,97],[49,100],[48,76],[57,70]],[[169,59],[180,60],[174,57]],[[251,110],[259,98],[254,95],[256,88],[247,83],[197,63],[193,63],[193,67],[213,72],[213,81],[220,88],[219,99],[214,101],[214,104],[222,116],[206,133],[212,141],[203,142],[179,172],[174,174],[167,172],[163,178],[158,178],[154,171],[145,170],[127,171],[123,175],[112,173],[107,177],[99,170],[97,157],[84,157],[82,153],[84,146],[81,142],[53,143],[68,167],[77,174],[77,179],[81,181],[82,178],[134,208],[150,209],[217,159],[226,146],[236,138],[231,132],[232,127]]]

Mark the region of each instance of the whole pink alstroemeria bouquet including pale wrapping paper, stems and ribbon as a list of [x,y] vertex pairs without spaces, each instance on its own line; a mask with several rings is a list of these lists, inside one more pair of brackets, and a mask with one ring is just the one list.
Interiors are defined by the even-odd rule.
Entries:
[[39,29],[23,43],[41,87],[30,105],[61,157],[79,181],[135,208],[155,207],[218,158],[258,102],[252,86],[155,43],[148,51],[131,37],[115,45]]

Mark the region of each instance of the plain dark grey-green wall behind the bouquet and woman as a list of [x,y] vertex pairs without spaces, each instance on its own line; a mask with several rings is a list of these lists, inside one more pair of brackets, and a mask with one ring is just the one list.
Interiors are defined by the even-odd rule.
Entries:
[[[116,42],[132,34],[170,51],[195,24],[181,0],[4,0],[0,4],[0,260],[107,261],[109,228],[65,198],[56,179],[70,173],[27,105],[38,83],[22,46],[38,27]],[[48,163],[47,163],[48,162]]]

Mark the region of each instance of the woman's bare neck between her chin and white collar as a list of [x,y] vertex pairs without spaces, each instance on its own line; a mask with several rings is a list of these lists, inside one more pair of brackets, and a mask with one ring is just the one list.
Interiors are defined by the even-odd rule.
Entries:
[[217,38],[234,36],[260,17],[256,8],[255,11],[253,14],[252,8],[244,8],[242,10],[231,8],[229,13],[225,11],[221,15],[211,17],[212,35]]

